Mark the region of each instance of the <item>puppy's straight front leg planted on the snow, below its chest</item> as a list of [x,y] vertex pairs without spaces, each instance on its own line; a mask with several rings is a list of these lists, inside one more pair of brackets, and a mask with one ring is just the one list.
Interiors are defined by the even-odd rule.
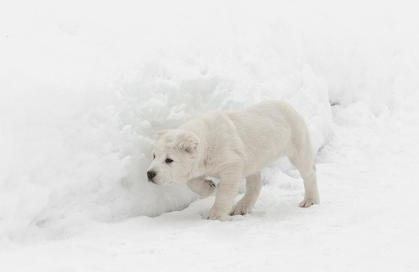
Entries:
[[240,186],[242,176],[237,174],[221,175],[221,182],[216,192],[215,203],[204,219],[226,220],[233,206],[234,198]]

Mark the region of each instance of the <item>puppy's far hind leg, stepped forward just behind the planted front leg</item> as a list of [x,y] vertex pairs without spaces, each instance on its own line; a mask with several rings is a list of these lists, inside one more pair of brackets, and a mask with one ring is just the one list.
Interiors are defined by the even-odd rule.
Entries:
[[260,188],[262,187],[262,180],[260,179],[260,172],[246,177],[246,193],[240,199],[233,209],[231,215],[244,215],[251,213],[253,206],[258,199]]

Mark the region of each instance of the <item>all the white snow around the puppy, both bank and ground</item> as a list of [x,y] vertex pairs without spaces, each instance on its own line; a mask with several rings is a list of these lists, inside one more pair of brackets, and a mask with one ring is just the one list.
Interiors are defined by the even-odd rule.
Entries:
[[[1,271],[417,271],[409,4],[7,3]],[[298,208],[286,159],[227,222],[200,219],[214,196],[145,180],[157,131],[265,99],[304,116],[321,205]]]

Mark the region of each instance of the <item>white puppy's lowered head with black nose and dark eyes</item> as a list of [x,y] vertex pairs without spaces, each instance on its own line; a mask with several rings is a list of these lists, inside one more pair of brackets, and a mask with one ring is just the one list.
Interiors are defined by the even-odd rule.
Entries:
[[199,138],[182,129],[159,132],[153,150],[153,162],[147,170],[147,179],[156,185],[186,183],[196,162]]

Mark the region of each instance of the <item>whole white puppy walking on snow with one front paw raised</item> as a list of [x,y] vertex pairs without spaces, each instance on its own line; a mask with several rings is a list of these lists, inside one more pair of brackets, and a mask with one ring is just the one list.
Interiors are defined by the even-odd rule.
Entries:
[[[262,186],[260,169],[282,156],[290,159],[304,180],[300,207],[319,203],[309,131],[301,115],[282,101],[238,111],[210,111],[179,129],[160,131],[147,178],[157,185],[186,183],[202,196],[215,190],[214,182],[205,176],[220,178],[214,206],[205,218],[226,220],[229,214],[251,212]],[[232,208],[244,177],[246,193]]]

